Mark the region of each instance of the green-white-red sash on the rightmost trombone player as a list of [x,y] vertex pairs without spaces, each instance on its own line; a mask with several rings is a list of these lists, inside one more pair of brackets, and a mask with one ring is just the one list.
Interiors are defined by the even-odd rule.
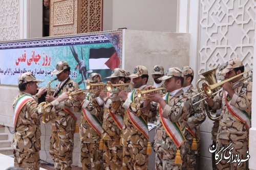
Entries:
[[226,96],[226,91],[224,90],[224,98],[225,98],[225,103],[227,106],[228,111],[236,118],[238,119],[240,122],[245,124],[245,127],[247,129],[247,131],[250,129],[251,127],[251,118],[248,115],[248,113],[245,110],[240,110],[232,105],[230,105],[230,101],[227,102],[227,96]]

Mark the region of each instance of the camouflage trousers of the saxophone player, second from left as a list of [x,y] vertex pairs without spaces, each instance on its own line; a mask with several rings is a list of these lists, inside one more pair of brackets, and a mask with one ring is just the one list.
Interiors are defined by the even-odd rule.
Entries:
[[71,170],[74,149],[74,131],[52,131],[50,137],[50,155],[55,169]]

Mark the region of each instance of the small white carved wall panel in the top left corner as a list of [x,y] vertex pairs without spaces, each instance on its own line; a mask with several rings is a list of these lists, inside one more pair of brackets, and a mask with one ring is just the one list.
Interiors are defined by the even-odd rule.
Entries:
[[19,4],[18,0],[0,0],[0,41],[19,38]]

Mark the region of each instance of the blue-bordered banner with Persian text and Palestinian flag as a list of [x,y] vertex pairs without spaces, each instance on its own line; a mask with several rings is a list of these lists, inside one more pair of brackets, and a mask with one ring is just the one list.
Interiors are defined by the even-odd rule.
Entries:
[[0,42],[0,85],[17,86],[18,77],[29,71],[36,79],[45,81],[40,87],[46,87],[56,77],[51,75],[56,63],[67,61],[71,67],[70,78],[84,89],[83,81],[91,72],[105,78],[121,66],[121,41],[120,30]]

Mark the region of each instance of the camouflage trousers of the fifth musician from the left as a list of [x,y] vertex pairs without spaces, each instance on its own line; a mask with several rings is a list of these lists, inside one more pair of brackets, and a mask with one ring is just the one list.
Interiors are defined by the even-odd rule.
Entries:
[[147,170],[148,155],[146,155],[146,147],[129,148],[123,147],[123,170]]

